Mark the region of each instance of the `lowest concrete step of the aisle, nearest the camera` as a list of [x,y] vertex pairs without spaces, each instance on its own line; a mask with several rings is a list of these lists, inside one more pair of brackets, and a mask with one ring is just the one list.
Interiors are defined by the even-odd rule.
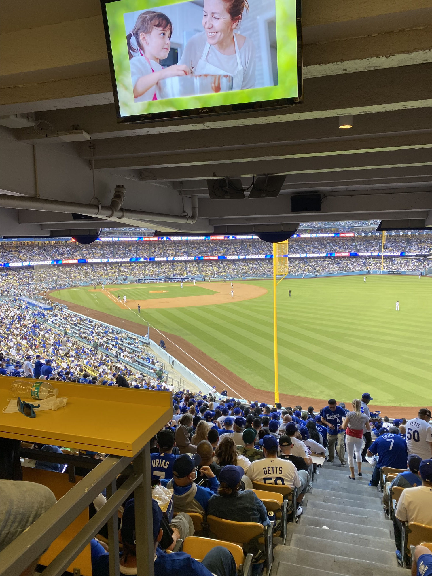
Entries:
[[[363,554],[366,555],[367,552],[365,550]],[[305,566],[344,576],[409,576],[409,571],[397,566],[396,554],[393,554],[393,557],[391,564],[384,565],[367,560],[347,558],[346,556],[323,554],[314,550],[301,550],[290,546],[279,545],[275,548],[275,562],[284,562],[291,567],[293,565]],[[308,573],[310,574],[310,572]],[[279,574],[282,576],[284,573],[281,571]],[[293,574],[292,568],[289,567],[286,574]],[[297,575],[297,572],[295,574]]]

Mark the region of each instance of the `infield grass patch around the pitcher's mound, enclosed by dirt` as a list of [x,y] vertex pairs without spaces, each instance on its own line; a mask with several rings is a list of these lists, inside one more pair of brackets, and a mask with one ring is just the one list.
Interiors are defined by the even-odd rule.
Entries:
[[[97,286],[99,289],[100,286]],[[126,295],[126,300],[150,300],[150,298],[180,298],[185,296],[209,296],[216,294],[214,290],[202,288],[201,286],[193,286],[191,283],[184,283],[183,288],[180,284],[133,284],[133,285],[119,285],[116,287],[107,286],[108,290],[115,298],[120,294]],[[158,291],[162,290],[162,291]],[[101,294],[102,296],[102,294]],[[78,302],[77,302],[78,304]]]

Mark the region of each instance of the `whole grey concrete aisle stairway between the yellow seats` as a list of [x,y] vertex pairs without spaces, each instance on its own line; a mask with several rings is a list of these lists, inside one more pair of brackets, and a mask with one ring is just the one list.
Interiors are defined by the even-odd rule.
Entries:
[[409,576],[398,567],[380,494],[367,485],[370,465],[355,481],[349,473],[339,461],[319,469],[300,522],[288,525],[285,545],[275,548],[272,576]]

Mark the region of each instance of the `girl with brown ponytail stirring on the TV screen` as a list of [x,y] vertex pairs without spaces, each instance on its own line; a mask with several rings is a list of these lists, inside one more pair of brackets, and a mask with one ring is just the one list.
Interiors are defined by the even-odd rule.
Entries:
[[189,74],[185,65],[162,68],[159,63],[168,57],[172,29],[166,14],[146,10],[139,14],[134,28],[126,36],[135,102],[158,100],[156,84],[159,80]]

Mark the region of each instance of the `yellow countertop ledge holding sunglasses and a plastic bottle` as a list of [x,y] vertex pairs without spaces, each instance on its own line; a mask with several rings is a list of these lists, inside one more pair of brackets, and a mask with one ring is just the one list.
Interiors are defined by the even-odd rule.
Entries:
[[[133,457],[172,418],[170,392],[52,382],[67,404],[56,411],[3,414],[13,382],[31,378],[0,376],[0,437]],[[21,399],[24,400],[24,399]],[[37,400],[32,400],[37,404]]]

